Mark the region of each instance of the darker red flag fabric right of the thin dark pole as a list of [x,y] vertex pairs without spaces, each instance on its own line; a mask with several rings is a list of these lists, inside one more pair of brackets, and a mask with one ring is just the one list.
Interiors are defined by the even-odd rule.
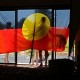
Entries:
[[34,41],[34,49],[64,51],[69,35],[68,28],[50,28],[48,34],[40,39]]

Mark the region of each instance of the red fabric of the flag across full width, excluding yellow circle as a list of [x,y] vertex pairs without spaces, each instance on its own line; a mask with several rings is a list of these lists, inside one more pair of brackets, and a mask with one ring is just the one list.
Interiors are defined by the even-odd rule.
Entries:
[[68,28],[51,27],[46,36],[32,41],[23,36],[20,28],[0,30],[0,54],[19,52],[32,47],[37,50],[63,51],[68,35]]

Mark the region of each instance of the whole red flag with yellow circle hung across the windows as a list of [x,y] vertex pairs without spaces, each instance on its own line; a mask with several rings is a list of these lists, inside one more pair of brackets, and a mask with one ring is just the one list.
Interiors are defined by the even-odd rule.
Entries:
[[[46,24],[40,23],[41,17],[46,18]],[[68,28],[50,27],[47,16],[41,13],[32,14],[25,19],[22,28],[0,29],[0,54],[32,48],[63,51],[65,50],[68,35]]]

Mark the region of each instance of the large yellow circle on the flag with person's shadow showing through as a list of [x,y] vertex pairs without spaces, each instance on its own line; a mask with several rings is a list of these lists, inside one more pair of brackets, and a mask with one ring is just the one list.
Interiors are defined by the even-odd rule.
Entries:
[[[41,18],[45,17],[45,23],[42,24]],[[50,28],[48,17],[42,13],[34,13],[28,16],[22,26],[22,34],[27,40],[39,40],[45,37]]]

